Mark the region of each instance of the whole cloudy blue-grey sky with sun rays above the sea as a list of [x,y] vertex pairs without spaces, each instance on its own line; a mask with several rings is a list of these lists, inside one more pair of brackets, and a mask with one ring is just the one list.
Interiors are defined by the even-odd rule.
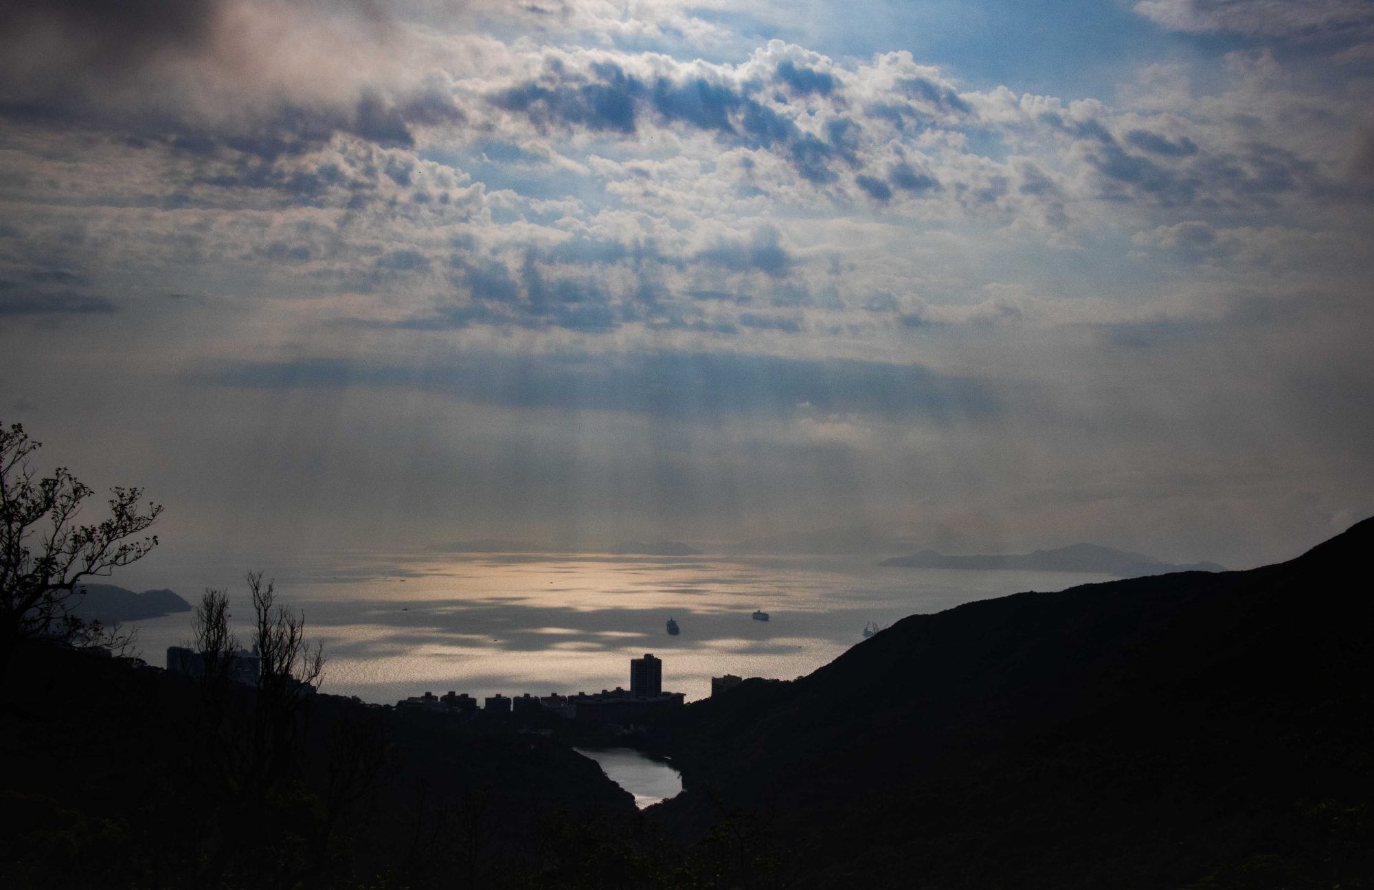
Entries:
[[1371,76],[1369,0],[0,0],[0,422],[181,555],[1285,559],[1374,512]]

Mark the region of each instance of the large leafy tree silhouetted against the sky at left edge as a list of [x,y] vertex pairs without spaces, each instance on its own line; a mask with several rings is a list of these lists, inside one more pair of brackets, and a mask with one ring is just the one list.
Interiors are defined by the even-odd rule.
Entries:
[[41,446],[23,426],[0,424],[0,674],[19,640],[71,640],[81,630],[71,614],[81,578],[109,575],[158,544],[137,537],[162,514],[143,504],[140,488],[111,489],[109,518],[78,525],[95,490],[65,467],[40,477],[30,456]]

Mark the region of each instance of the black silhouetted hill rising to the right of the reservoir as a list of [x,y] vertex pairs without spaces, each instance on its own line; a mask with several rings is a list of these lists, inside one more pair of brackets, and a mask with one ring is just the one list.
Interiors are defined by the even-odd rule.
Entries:
[[[800,886],[1316,887],[1374,874],[1374,521],[1287,563],[912,615],[657,746]],[[1345,883],[1342,883],[1345,882]]]

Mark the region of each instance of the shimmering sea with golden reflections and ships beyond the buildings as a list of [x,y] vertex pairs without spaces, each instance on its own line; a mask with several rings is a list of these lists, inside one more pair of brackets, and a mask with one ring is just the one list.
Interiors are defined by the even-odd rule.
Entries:
[[[595,692],[629,685],[629,659],[664,661],[664,688],[688,700],[710,677],[793,678],[863,640],[867,622],[1018,591],[1057,591],[1105,575],[892,569],[875,558],[636,558],[330,552],[258,566],[157,564],[111,578],[170,586],[190,602],[228,586],[235,622],[250,617],[245,567],[276,581],[324,646],[323,691],[394,703],[426,691]],[[769,621],[754,621],[761,608]],[[682,628],[669,636],[675,618]],[[247,640],[247,626],[239,628]],[[154,665],[191,637],[190,614],[139,622]]]

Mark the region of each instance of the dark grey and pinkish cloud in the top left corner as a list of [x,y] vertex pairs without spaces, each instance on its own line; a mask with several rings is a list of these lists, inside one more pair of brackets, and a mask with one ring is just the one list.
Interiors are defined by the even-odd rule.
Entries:
[[206,154],[300,151],[350,133],[414,144],[463,121],[451,91],[386,58],[370,0],[0,0],[0,118]]

